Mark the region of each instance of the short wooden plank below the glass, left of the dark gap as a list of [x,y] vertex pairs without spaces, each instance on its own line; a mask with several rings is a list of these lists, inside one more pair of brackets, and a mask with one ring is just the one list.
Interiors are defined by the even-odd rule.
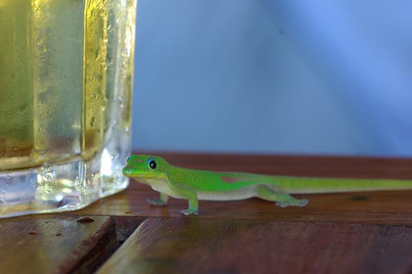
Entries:
[[[1,273],[90,273],[116,245],[115,221],[38,215],[0,220]],[[30,233],[29,233],[30,232]]]

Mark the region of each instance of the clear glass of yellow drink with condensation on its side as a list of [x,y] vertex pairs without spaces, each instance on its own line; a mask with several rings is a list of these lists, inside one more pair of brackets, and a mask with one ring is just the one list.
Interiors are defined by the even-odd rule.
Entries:
[[0,0],[0,217],[123,190],[136,0]]

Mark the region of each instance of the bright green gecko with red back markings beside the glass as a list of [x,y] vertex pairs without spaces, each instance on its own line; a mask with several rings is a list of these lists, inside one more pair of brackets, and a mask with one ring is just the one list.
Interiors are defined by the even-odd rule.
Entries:
[[181,210],[185,215],[198,214],[198,199],[231,201],[258,197],[285,208],[308,203],[307,199],[295,199],[290,194],[412,189],[412,182],[407,180],[288,177],[182,169],[151,155],[131,155],[123,174],[160,192],[159,198],[147,199],[152,205],[163,206],[169,197],[187,199],[189,208]]

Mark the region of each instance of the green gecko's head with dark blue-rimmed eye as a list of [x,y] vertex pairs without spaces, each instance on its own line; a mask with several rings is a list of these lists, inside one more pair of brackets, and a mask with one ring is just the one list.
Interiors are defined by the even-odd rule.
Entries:
[[130,155],[123,174],[127,177],[141,179],[161,179],[170,164],[163,158],[151,155]]

